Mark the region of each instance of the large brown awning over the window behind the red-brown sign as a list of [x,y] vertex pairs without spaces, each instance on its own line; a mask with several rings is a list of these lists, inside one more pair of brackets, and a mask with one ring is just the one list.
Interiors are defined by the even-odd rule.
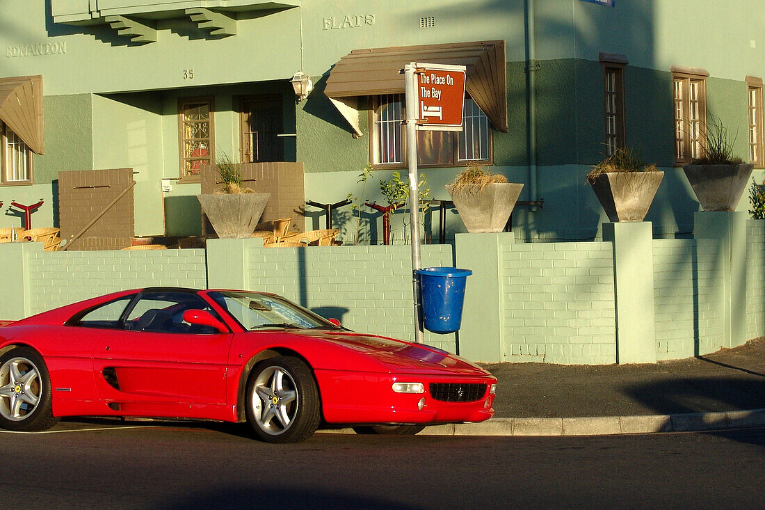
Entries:
[[505,41],[479,41],[353,50],[334,64],[324,93],[361,135],[358,98],[404,93],[405,64],[467,66],[465,90],[496,129],[507,132]]

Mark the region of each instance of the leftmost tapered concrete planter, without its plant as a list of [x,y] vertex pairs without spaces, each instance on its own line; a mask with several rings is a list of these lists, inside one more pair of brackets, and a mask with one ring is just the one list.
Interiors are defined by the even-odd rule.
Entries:
[[218,237],[250,237],[260,220],[270,193],[197,195],[204,214]]

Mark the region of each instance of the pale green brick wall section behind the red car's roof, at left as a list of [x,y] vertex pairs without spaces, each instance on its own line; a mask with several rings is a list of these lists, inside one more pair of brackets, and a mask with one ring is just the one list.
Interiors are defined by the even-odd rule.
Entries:
[[31,313],[123,289],[207,288],[204,250],[42,251],[28,259]]

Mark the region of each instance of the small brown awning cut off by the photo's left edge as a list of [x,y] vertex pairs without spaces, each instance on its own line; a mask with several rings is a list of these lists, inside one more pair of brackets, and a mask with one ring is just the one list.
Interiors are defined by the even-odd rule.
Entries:
[[0,78],[0,120],[37,154],[43,153],[43,77]]

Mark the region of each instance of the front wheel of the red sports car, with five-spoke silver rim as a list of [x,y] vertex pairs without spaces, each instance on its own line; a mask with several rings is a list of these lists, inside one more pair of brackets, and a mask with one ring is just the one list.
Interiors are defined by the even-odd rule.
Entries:
[[270,358],[256,365],[247,383],[245,405],[250,426],[268,443],[306,440],[321,422],[314,375],[298,358]]

